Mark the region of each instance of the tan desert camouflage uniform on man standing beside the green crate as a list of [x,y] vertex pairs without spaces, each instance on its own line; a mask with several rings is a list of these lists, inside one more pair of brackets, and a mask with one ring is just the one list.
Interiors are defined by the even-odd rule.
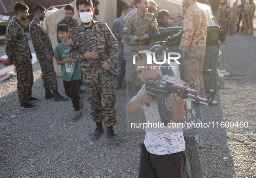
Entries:
[[179,50],[185,51],[184,59],[185,82],[197,83],[195,89],[201,97],[204,96],[204,55],[207,37],[206,14],[196,4],[189,6],[184,17],[183,28],[187,31],[182,34]]

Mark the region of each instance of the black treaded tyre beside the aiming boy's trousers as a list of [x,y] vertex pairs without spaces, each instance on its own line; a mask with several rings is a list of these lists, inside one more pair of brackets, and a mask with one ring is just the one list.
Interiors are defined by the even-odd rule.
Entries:
[[[196,135],[197,136],[197,135]],[[198,152],[198,143],[194,137],[184,137],[186,143],[186,168],[183,178],[203,178],[202,166]]]

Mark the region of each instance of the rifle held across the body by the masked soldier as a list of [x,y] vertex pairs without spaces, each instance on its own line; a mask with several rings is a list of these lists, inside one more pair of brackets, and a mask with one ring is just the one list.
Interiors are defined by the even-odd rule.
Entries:
[[[91,53],[92,51],[94,51],[93,49],[91,49],[91,47],[89,47],[83,40],[81,37],[77,36],[78,40],[82,41],[84,46],[86,47],[86,49]],[[97,60],[100,62],[100,61],[107,61],[107,59],[111,59],[110,56],[107,56],[107,54],[98,54],[97,55]],[[116,60],[113,60],[111,59],[112,61],[115,61],[116,62],[116,65],[113,65],[112,63],[108,62],[107,63],[110,65],[110,68],[109,68],[109,71],[114,75],[114,76],[117,76],[118,75],[118,72],[117,72],[117,69],[115,69],[114,67],[117,66],[117,61]]]

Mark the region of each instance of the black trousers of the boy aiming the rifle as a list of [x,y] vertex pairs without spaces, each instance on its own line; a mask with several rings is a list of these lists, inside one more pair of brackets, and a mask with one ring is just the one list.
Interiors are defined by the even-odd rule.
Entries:
[[140,148],[138,178],[182,178],[186,164],[185,151],[155,155],[149,153],[143,143]]

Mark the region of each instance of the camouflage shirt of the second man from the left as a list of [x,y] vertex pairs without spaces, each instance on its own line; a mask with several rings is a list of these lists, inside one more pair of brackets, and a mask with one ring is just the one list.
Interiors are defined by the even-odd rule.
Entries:
[[48,51],[53,56],[52,43],[47,31],[43,27],[42,23],[39,22],[35,17],[30,22],[29,32],[32,38],[32,44],[35,48],[36,55],[42,54]]

